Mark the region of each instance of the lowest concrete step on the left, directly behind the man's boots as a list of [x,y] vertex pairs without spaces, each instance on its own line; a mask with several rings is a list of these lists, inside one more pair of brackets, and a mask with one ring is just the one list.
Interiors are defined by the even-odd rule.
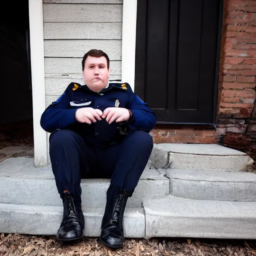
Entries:
[[[104,209],[85,208],[84,235],[98,236]],[[62,220],[63,208],[51,205],[0,203],[0,232],[25,234],[56,234]],[[143,208],[125,208],[123,216],[125,237],[145,236]]]

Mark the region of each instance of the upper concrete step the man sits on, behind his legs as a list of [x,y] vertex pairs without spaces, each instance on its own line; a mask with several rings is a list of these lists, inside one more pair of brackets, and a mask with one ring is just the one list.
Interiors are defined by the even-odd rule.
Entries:
[[[0,202],[62,205],[51,168],[34,168],[33,158],[8,158],[0,163]],[[109,179],[82,179],[82,205],[104,207]],[[145,169],[127,207],[141,207],[143,198],[169,194],[169,179],[156,169]]]

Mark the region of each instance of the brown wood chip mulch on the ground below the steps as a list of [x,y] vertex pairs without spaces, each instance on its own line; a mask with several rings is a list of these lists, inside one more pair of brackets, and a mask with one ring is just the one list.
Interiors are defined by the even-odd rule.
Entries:
[[113,256],[113,255],[256,255],[256,240],[206,238],[151,238],[124,240],[122,249],[111,250],[97,240],[84,237],[79,242],[62,243],[54,236],[0,235],[0,255]]

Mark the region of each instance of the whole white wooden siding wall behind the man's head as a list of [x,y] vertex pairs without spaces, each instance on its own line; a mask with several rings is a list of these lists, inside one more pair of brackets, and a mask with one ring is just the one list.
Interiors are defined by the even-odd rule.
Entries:
[[45,106],[71,81],[83,84],[81,60],[92,48],[108,54],[109,79],[121,79],[122,0],[43,0],[43,31]]

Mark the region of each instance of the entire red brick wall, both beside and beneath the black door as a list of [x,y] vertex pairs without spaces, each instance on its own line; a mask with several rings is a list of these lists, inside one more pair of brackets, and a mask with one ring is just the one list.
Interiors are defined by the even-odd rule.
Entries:
[[230,132],[256,135],[255,76],[256,0],[224,0],[217,105],[219,127],[158,125],[150,132],[154,142],[218,143]]

